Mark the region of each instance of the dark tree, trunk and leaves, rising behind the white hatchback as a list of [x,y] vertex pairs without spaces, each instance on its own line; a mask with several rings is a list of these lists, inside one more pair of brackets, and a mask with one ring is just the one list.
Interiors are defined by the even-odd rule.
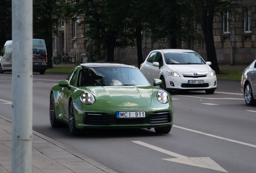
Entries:
[[[237,3],[237,0],[189,0],[191,6],[196,8],[196,17],[204,33],[207,60],[212,62],[211,67],[219,74],[219,65],[213,40],[213,19],[214,16],[222,18],[223,11],[227,10],[231,16],[244,17],[244,10],[248,9],[245,4]],[[241,12],[242,9],[242,12]],[[229,22],[232,22],[230,20]],[[234,27],[232,27],[235,29]]]

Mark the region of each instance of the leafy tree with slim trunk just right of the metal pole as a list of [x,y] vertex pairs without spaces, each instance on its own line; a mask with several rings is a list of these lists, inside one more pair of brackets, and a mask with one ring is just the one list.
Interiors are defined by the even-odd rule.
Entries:
[[52,35],[58,35],[64,4],[64,0],[33,0],[33,38],[45,40],[48,68],[52,68]]

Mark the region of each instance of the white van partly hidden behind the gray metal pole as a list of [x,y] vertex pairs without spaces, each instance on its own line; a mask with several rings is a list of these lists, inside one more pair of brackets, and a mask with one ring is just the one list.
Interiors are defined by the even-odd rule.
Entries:
[[[45,41],[33,39],[33,71],[44,74],[47,69],[47,51]],[[12,70],[12,40],[6,41],[0,53],[0,73]]]

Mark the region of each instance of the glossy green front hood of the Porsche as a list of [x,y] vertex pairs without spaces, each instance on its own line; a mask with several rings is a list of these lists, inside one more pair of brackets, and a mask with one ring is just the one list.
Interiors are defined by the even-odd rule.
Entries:
[[153,92],[152,86],[99,86],[88,89],[109,107],[150,106]]

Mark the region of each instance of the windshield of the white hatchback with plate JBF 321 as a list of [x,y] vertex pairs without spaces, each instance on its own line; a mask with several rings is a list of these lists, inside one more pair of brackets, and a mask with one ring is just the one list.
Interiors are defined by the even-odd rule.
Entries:
[[204,60],[194,52],[165,53],[166,64],[205,64]]

